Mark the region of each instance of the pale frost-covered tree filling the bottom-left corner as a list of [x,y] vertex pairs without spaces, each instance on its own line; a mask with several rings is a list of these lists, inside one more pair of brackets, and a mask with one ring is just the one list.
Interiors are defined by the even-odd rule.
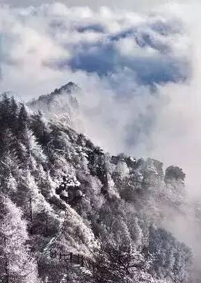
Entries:
[[22,211],[8,197],[0,195],[0,278],[5,283],[37,283],[36,264],[26,240]]

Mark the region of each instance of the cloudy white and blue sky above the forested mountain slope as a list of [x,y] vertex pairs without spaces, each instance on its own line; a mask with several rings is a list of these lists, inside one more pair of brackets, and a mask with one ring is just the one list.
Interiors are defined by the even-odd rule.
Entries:
[[179,165],[201,195],[199,2],[6,1],[0,92],[27,101],[74,81],[97,145]]

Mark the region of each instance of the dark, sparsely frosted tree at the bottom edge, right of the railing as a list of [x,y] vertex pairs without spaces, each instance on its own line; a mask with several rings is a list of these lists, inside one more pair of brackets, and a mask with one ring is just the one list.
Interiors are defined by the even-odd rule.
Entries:
[[148,272],[152,265],[129,241],[104,240],[94,255],[92,274],[96,283],[157,282]]

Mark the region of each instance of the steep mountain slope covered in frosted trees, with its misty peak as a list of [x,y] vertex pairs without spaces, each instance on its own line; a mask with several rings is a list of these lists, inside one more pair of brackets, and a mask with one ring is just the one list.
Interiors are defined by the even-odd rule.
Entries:
[[163,227],[184,214],[184,172],[77,133],[77,89],[29,102],[32,112],[1,96],[1,282],[192,282],[191,249]]

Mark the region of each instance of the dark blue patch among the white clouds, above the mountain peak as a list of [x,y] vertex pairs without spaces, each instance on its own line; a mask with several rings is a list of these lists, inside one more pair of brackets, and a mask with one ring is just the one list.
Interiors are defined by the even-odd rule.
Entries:
[[96,72],[100,76],[128,67],[137,82],[143,84],[181,81],[188,78],[189,74],[188,62],[177,61],[171,56],[124,58],[115,52],[113,45],[83,49],[71,60],[59,63],[58,67],[66,65],[76,70]]

